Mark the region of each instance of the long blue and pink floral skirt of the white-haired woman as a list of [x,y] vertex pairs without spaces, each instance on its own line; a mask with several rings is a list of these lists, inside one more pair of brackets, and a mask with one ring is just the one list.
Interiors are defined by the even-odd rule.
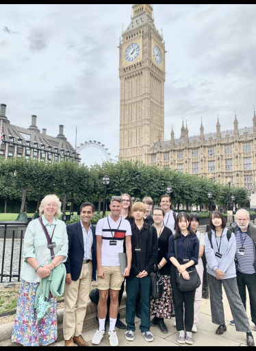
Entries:
[[57,298],[47,300],[51,307],[39,321],[34,310],[38,282],[21,280],[12,342],[24,346],[47,346],[57,339]]

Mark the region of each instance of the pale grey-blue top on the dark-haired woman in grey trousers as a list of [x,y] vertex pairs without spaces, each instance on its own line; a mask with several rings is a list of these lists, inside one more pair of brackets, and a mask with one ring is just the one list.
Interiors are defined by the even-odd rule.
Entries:
[[[218,245],[220,245],[220,239],[218,238]],[[213,246],[213,249],[212,249]],[[222,279],[229,279],[236,277],[236,269],[235,269],[235,235],[232,233],[231,238],[227,239],[227,228],[223,230],[222,240],[220,245],[220,254],[222,254],[221,258],[215,256],[216,252],[218,252],[218,247],[215,238],[215,232],[212,230],[212,246],[209,241],[208,234],[205,235],[205,257],[207,261],[207,273],[211,274],[211,276],[216,277],[215,269],[220,269],[225,273],[225,276]]]

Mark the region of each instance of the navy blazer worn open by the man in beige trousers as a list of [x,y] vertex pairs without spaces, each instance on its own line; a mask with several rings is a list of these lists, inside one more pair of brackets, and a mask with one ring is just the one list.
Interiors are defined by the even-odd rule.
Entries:
[[[92,278],[96,280],[96,236],[95,226],[92,224]],[[81,274],[81,268],[84,261],[84,236],[81,229],[81,222],[75,222],[66,226],[68,233],[68,258],[64,265],[66,266],[66,273],[71,274],[72,280],[78,280]]]

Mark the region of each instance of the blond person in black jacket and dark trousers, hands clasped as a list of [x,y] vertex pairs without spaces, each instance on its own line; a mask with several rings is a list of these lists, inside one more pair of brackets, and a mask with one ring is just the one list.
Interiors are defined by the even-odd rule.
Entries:
[[125,339],[134,340],[136,330],[134,324],[136,311],[136,298],[140,291],[141,300],[141,323],[140,330],[146,341],[153,341],[153,334],[149,331],[150,321],[150,298],[151,298],[151,269],[157,261],[157,231],[154,227],[144,222],[146,206],[142,202],[136,202],[131,208],[135,219],[131,224],[131,271],[126,279],[126,323],[127,332]]

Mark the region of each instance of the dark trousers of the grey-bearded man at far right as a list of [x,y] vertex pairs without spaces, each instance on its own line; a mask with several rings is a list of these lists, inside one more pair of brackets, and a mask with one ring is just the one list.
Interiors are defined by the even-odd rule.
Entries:
[[251,307],[251,317],[254,324],[256,324],[256,273],[255,274],[244,274],[240,271],[236,271],[236,280],[238,282],[238,291],[244,309],[246,311],[246,287],[248,289]]

